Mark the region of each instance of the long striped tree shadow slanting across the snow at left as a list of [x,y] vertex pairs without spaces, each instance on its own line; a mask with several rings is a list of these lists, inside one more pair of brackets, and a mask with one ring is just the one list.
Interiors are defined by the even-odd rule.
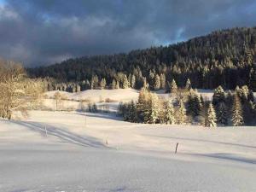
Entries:
[[82,137],[78,134],[75,134],[71,131],[66,131],[61,128],[55,127],[53,125],[41,124],[38,122],[31,121],[13,121],[17,125],[22,125],[31,131],[37,131],[42,136],[46,136],[45,126],[47,129],[47,135],[55,136],[61,139],[66,143],[73,143],[83,147],[92,147],[92,148],[108,148],[102,142],[98,141],[95,137]]

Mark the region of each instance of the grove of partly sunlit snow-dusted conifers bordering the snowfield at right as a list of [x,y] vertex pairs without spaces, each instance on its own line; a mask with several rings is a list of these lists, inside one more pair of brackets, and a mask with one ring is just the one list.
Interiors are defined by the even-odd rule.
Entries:
[[170,97],[162,98],[144,87],[137,102],[119,104],[119,115],[125,121],[147,124],[256,125],[256,102],[247,85],[228,93],[218,86],[212,100],[207,101],[189,81],[184,89],[178,89],[172,81]]

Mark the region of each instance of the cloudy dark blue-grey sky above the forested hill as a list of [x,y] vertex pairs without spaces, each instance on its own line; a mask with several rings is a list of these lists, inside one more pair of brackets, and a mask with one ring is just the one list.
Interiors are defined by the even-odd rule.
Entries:
[[0,0],[0,57],[37,67],[256,26],[256,0]]

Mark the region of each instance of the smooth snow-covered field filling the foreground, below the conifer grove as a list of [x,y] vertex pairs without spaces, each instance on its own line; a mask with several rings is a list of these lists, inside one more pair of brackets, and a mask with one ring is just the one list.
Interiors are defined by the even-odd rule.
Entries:
[[0,119],[0,191],[253,192],[256,128],[32,111],[26,120]]

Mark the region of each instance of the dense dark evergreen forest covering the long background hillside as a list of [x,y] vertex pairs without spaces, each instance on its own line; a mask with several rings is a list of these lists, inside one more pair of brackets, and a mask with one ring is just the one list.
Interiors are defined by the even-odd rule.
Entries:
[[[183,87],[227,90],[246,84],[256,91],[256,27],[233,28],[169,46],[137,49],[128,54],[69,59],[49,67],[28,68],[33,78],[47,79],[48,90],[165,89],[172,79]],[[161,84],[158,84],[159,79]],[[128,83],[129,84],[128,84]]]

